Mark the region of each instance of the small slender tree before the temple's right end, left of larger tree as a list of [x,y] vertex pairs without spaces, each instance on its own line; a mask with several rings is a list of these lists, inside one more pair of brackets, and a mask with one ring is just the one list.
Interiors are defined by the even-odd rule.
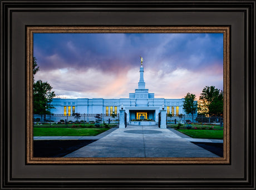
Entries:
[[183,103],[183,109],[186,114],[192,115],[192,121],[194,121],[194,114],[196,113],[196,109],[198,107],[198,103],[195,101],[195,94],[187,93]]

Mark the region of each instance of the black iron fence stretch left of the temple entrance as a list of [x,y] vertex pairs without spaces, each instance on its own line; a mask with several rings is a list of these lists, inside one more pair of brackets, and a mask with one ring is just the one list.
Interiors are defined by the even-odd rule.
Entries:
[[33,123],[34,127],[119,126],[119,114],[34,114]]

